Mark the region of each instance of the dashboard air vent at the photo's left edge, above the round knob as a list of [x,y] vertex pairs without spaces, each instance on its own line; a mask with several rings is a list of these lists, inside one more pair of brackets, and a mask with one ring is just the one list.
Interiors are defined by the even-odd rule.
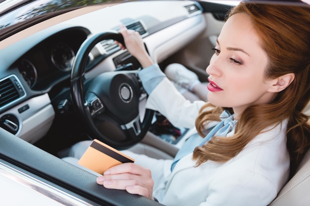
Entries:
[[0,108],[24,95],[25,91],[15,76],[9,76],[0,81]]

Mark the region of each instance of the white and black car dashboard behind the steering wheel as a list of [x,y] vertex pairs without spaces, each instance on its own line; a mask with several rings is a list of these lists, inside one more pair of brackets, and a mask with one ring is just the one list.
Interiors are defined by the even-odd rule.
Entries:
[[[72,114],[72,108],[67,108],[71,68],[89,36],[117,31],[123,24],[142,35],[151,58],[160,64],[204,35],[209,21],[206,19],[195,1],[133,1],[67,12],[1,41],[0,89],[1,82],[11,78],[11,86],[19,93],[3,104],[0,98],[0,126],[31,143],[55,125],[61,125],[56,129],[59,131],[70,128],[72,119],[66,118]],[[211,21],[218,28],[223,24]],[[205,53],[211,55],[212,51]],[[207,64],[205,59],[200,61]],[[89,53],[84,77],[87,82],[106,71],[139,67],[126,50],[106,40]]]

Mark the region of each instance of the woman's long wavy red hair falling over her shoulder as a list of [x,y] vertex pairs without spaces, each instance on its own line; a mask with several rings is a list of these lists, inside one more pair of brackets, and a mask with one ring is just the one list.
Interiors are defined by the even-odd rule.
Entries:
[[[263,129],[288,119],[287,148],[291,159],[291,175],[310,147],[309,116],[302,113],[310,101],[310,7],[241,2],[229,12],[228,18],[246,13],[260,38],[261,48],[268,56],[265,79],[294,73],[294,81],[268,104],[253,105],[239,118],[231,138],[213,137],[208,144],[196,147],[193,159],[197,166],[207,160],[226,162]],[[219,120],[224,109],[207,103],[196,119],[196,128],[204,136],[204,125]],[[255,126],[253,126],[255,125]]]

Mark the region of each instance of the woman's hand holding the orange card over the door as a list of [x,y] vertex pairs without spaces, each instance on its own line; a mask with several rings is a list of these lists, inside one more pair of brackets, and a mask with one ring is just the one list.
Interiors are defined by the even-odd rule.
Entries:
[[128,193],[153,198],[154,181],[151,170],[134,163],[124,163],[107,169],[97,183],[109,189],[126,190]]

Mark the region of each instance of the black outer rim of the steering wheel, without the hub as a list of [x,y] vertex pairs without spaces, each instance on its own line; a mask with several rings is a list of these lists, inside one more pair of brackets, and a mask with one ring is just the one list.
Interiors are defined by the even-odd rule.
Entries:
[[[136,143],[140,142],[145,134],[147,133],[149,127],[152,124],[152,119],[154,115],[153,110],[146,110],[143,122],[140,122],[140,119],[137,120],[140,125],[140,132],[137,134],[136,132],[132,132],[130,130],[129,134],[127,128],[124,128],[127,132],[127,136],[125,140],[118,141],[108,138],[103,135],[103,133],[97,128],[93,121],[93,117],[91,115],[91,111],[88,107],[88,103],[85,100],[84,96],[84,74],[85,67],[88,59],[88,54],[91,52],[92,48],[103,40],[114,40],[124,44],[124,40],[121,34],[116,32],[102,32],[99,34],[95,34],[88,39],[86,39],[80,49],[78,50],[76,57],[73,62],[72,71],[71,71],[71,79],[70,79],[70,90],[71,90],[71,99],[74,106],[75,111],[80,117],[81,121],[86,125],[88,130],[88,135],[92,139],[98,139],[100,141],[105,142],[106,144],[117,148],[117,149],[126,149],[129,148]],[[127,72],[127,71],[126,71]],[[138,106],[138,105],[137,105]],[[136,133],[136,134],[135,134]]]

